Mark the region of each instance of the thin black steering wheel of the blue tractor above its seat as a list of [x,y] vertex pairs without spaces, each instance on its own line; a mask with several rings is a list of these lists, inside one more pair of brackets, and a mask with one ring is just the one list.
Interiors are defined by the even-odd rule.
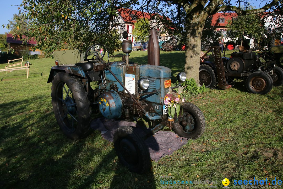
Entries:
[[91,45],[85,52],[85,60],[87,60],[90,63],[96,62],[98,61],[97,56],[99,56],[102,59],[105,55],[105,52],[106,52],[106,48],[103,44],[95,43]]

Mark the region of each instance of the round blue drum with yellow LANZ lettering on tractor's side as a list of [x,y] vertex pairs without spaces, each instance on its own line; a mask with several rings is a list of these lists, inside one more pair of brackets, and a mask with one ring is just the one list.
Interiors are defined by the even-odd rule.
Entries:
[[107,119],[119,118],[122,115],[122,100],[116,91],[100,95],[98,106],[101,114]]

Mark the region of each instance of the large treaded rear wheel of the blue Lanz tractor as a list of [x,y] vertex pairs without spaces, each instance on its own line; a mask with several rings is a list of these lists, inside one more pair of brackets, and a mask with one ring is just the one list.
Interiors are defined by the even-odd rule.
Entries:
[[70,139],[80,139],[91,132],[91,109],[87,92],[80,78],[59,72],[51,87],[55,118]]

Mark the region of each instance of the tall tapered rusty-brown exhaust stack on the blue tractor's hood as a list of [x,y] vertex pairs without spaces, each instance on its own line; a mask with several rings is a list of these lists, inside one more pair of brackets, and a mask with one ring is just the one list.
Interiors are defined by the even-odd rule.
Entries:
[[159,43],[156,29],[150,29],[147,48],[147,61],[150,65],[159,66]]

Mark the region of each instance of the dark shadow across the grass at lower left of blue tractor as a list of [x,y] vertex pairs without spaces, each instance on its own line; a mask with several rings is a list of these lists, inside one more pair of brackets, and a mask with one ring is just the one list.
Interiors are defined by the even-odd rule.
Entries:
[[[53,112],[40,109],[46,97],[33,98],[0,104],[0,188],[105,188],[105,183],[110,188],[155,188],[152,172],[137,175],[119,161],[113,163],[113,144],[98,131],[79,141],[67,139]],[[38,109],[30,110],[32,103]],[[125,175],[129,182],[121,182]]]

